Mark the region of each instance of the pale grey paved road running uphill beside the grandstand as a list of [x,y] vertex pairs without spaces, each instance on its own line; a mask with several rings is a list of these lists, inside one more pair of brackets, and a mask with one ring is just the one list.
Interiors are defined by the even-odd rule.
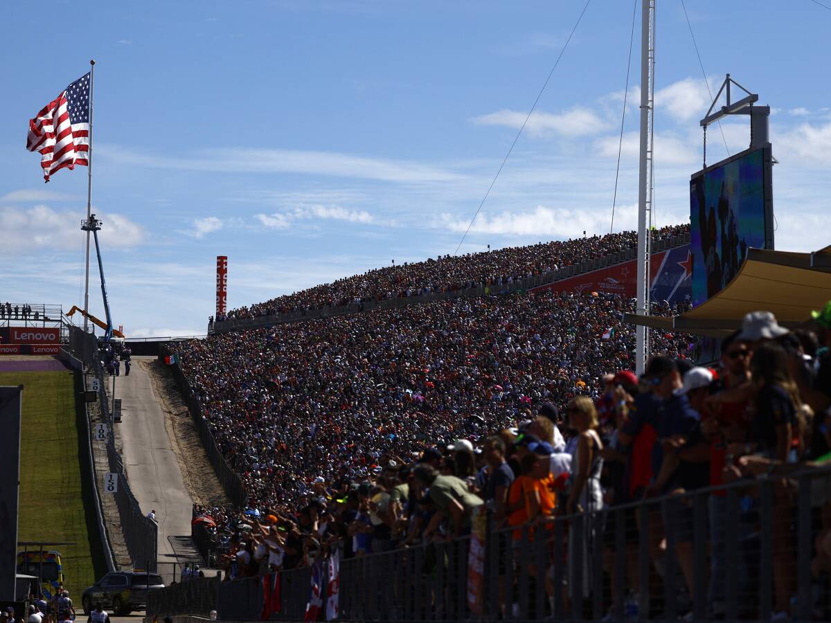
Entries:
[[[141,512],[155,510],[159,523],[159,561],[175,562],[168,537],[190,537],[193,501],[184,487],[165,428],[165,413],[150,384],[150,376],[133,357],[130,376],[116,377],[116,398],[121,399],[121,423],[116,424],[123,444],[123,458],[130,488]],[[107,377],[108,384],[112,382]]]

